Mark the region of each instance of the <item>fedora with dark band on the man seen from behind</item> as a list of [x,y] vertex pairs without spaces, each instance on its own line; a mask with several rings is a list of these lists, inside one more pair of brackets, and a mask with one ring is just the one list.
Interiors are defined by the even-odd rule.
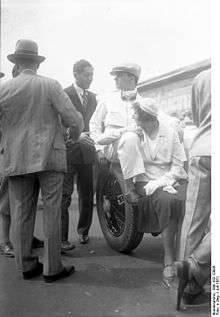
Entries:
[[15,46],[14,54],[9,54],[8,60],[12,63],[16,63],[18,58],[31,59],[38,63],[45,60],[44,56],[38,55],[38,45],[31,40],[18,40]]

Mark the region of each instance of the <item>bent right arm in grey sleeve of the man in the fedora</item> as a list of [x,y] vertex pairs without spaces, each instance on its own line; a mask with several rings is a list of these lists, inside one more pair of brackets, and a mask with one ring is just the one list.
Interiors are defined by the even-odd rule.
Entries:
[[70,98],[57,81],[51,84],[51,99],[52,106],[59,113],[63,126],[71,127],[77,125],[81,133],[84,128],[82,115],[75,109]]

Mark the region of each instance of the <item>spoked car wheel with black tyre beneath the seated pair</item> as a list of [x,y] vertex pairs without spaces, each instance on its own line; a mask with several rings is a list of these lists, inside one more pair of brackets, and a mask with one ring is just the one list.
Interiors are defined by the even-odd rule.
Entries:
[[102,169],[98,175],[97,212],[109,246],[123,253],[134,250],[143,238],[137,230],[138,208],[124,199],[122,180],[117,173]]

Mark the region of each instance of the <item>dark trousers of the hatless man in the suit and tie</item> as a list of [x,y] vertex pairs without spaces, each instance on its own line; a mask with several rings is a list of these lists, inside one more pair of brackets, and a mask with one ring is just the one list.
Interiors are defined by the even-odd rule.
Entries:
[[68,240],[69,212],[74,190],[74,177],[77,176],[79,204],[78,234],[88,235],[93,215],[93,165],[74,164],[64,175],[62,193],[62,241]]

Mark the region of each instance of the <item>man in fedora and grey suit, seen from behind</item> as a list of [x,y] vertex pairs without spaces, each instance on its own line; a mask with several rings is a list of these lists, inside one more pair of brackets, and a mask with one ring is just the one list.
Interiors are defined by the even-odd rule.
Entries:
[[[0,91],[2,126],[1,175],[9,177],[9,198],[15,258],[24,279],[43,273],[45,282],[69,276],[74,266],[61,263],[61,197],[66,171],[62,124],[83,128],[82,116],[61,85],[37,75],[45,57],[31,40],[19,40],[8,55],[19,75]],[[62,123],[61,123],[62,122]],[[32,254],[39,189],[43,198],[43,265]]]

